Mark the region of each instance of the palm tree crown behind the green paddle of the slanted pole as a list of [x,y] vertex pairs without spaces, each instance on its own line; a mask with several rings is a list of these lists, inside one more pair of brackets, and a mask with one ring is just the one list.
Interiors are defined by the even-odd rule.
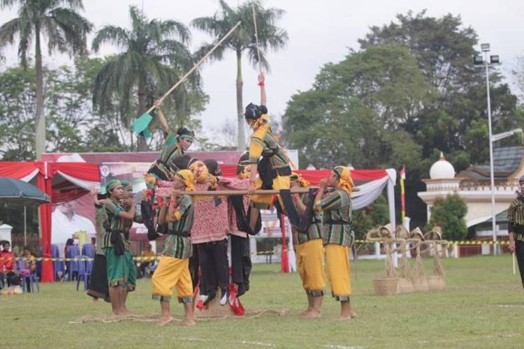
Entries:
[[[124,124],[129,126],[136,114],[143,114],[157,98],[179,79],[180,72],[193,66],[193,57],[187,45],[190,33],[187,27],[174,20],[151,20],[130,6],[131,29],[108,25],[96,33],[92,49],[98,52],[103,43],[120,47],[123,52],[109,59],[96,75],[93,104],[100,112],[111,110],[118,100]],[[191,75],[198,85],[198,75]],[[184,87],[174,91],[172,101],[177,110],[186,107]],[[138,98],[138,99],[137,99]],[[138,110],[136,103],[138,100]],[[131,113],[131,110],[137,113]],[[138,150],[147,150],[143,136],[138,138]]]

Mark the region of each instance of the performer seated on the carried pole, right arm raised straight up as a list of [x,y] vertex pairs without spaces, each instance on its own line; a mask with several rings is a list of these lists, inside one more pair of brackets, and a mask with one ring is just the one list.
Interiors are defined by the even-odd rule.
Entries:
[[[272,195],[253,195],[259,189],[289,189],[291,167],[289,158],[284,149],[280,147],[277,138],[271,133],[269,124],[268,108],[265,107],[265,77],[259,74],[261,105],[249,103],[245,110],[247,124],[253,128],[253,134],[249,142],[249,194],[252,195],[249,206],[249,226],[254,231],[256,221],[259,219],[260,210],[268,209],[272,204]],[[262,156],[261,161],[259,158]],[[256,174],[259,174],[259,178]],[[278,195],[280,205],[284,204]]]

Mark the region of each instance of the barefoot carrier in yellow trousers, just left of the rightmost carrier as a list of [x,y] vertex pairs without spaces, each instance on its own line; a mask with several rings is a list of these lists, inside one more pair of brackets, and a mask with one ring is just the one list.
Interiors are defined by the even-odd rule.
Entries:
[[[311,184],[298,173],[291,174],[291,188],[307,188]],[[298,212],[304,215],[307,194],[293,194],[293,202]],[[315,212],[306,232],[291,227],[296,234],[296,264],[302,285],[307,296],[307,309],[300,315],[303,318],[318,318],[324,295],[324,247],[321,212]]]

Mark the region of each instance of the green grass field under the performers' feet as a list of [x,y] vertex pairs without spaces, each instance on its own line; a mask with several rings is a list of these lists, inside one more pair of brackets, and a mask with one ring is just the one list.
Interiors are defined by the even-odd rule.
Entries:
[[[279,274],[279,265],[255,265],[252,289],[242,297],[247,312],[287,310],[251,318],[201,320],[196,327],[155,327],[154,322],[77,321],[103,318],[104,302],[94,304],[76,283],[41,285],[41,291],[0,297],[2,348],[435,348],[523,347],[524,291],[511,274],[511,259],[474,257],[442,260],[446,289],[378,297],[372,279],[384,262],[361,261],[353,269],[352,304],[358,318],[336,321],[339,305],[325,297],[322,317],[302,320],[305,307],[298,274]],[[431,274],[432,261],[425,260]],[[358,276],[358,278],[356,277]],[[150,299],[150,280],[141,279],[128,307],[147,318],[159,313]],[[175,315],[182,308],[173,303]],[[152,316],[150,317],[152,320]]]

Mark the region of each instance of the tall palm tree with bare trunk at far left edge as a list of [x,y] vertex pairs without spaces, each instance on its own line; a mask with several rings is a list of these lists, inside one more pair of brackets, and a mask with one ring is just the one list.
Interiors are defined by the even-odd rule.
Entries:
[[76,12],[83,10],[82,0],[0,0],[0,8],[19,5],[18,16],[0,27],[0,47],[15,42],[18,56],[27,67],[27,54],[34,40],[36,75],[36,158],[45,151],[45,114],[41,38],[48,39],[53,51],[71,55],[87,54],[87,34],[93,25]]

